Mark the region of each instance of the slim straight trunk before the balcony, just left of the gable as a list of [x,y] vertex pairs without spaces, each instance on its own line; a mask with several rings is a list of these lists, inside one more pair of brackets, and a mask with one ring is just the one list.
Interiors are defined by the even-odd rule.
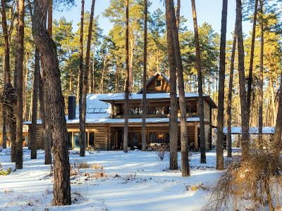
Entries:
[[125,0],[125,64],[126,64],[126,70],[125,70],[125,99],[124,99],[124,129],[123,129],[123,152],[128,152],[128,101],[129,101],[129,52],[128,52],[128,36],[129,36],[129,3],[128,0]]

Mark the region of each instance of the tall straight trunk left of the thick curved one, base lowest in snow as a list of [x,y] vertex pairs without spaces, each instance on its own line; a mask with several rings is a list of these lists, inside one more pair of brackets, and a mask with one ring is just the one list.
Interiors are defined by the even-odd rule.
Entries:
[[17,62],[17,109],[16,109],[16,169],[23,169],[23,37],[25,1],[18,1],[18,62]]

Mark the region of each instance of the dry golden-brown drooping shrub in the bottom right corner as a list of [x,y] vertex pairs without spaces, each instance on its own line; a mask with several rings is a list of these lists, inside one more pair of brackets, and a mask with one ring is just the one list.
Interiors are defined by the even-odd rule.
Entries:
[[203,210],[244,210],[246,204],[275,210],[282,205],[281,191],[282,159],[266,149],[252,149],[246,160],[235,158],[228,165]]

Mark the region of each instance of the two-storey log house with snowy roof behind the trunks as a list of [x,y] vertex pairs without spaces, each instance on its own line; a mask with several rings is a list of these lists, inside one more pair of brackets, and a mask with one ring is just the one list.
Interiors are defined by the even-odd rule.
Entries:
[[[187,128],[190,148],[200,148],[200,118],[198,94],[186,93]],[[168,78],[156,73],[147,82],[147,146],[151,143],[162,143],[169,146],[169,84]],[[128,147],[141,148],[142,131],[142,89],[130,94],[129,100]],[[212,109],[216,104],[209,96],[204,96],[204,123],[206,148],[212,147]],[[180,111],[178,110],[178,117]],[[68,146],[79,148],[79,113],[75,108],[75,96],[69,97]],[[179,119],[178,119],[179,122]],[[31,122],[25,122],[29,125]],[[37,122],[38,148],[43,148],[40,133],[40,120]],[[123,148],[124,128],[124,94],[88,94],[86,132],[87,148],[96,150],[121,150]],[[180,124],[178,124],[178,147],[180,148]]]

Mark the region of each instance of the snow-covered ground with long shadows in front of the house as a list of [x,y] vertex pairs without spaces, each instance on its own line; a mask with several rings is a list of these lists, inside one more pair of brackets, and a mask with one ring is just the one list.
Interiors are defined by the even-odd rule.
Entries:
[[[209,200],[209,188],[221,175],[214,168],[214,151],[207,153],[207,165],[200,164],[200,153],[191,154],[188,178],[180,171],[168,171],[168,154],[160,160],[155,152],[95,151],[80,158],[71,151],[70,162],[90,164],[79,172],[73,169],[79,173],[71,177],[73,205],[51,205],[51,167],[44,165],[44,151],[30,160],[25,148],[23,170],[0,176],[0,210],[201,210]],[[0,153],[0,163],[4,170],[14,168],[9,149]],[[101,173],[104,177],[97,177]],[[200,184],[204,188],[189,188]]]

